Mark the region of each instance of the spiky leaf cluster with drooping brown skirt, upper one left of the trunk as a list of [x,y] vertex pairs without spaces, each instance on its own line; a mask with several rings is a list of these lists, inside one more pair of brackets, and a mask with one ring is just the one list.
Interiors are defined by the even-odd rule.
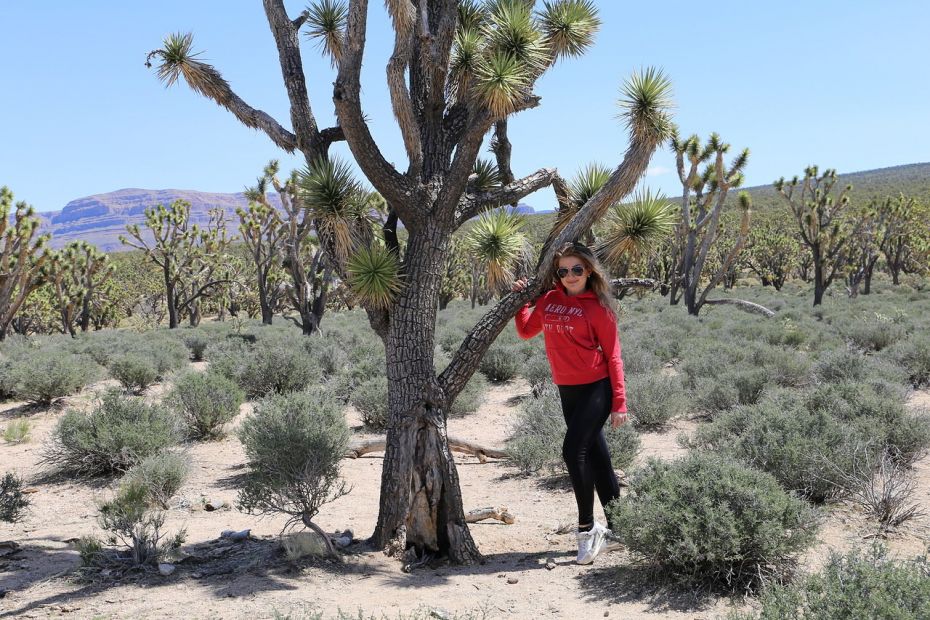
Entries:
[[338,159],[320,158],[300,172],[297,186],[320,235],[332,240],[336,258],[345,260],[355,245],[367,197],[352,169]]

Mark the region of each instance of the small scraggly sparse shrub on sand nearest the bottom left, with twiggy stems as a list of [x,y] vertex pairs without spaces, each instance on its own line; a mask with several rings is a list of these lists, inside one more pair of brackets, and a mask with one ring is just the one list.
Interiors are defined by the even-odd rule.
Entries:
[[86,565],[94,567],[157,566],[165,556],[184,542],[184,531],[168,536],[163,527],[165,514],[153,509],[145,481],[124,479],[113,499],[100,504],[100,527],[110,532],[111,547],[85,538],[79,553]]

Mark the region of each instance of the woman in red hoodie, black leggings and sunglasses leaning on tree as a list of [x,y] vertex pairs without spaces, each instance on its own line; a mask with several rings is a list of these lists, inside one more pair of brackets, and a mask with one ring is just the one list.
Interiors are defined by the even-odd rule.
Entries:
[[[590,564],[611,536],[594,521],[594,491],[603,506],[620,495],[602,428],[626,422],[623,360],[610,285],[594,254],[580,243],[559,248],[555,288],[517,313],[517,333],[542,332],[552,380],[559,389],[567,430],[562,458],[578,503],[579,564]],[[525,288],[525,280],[513,284]]]

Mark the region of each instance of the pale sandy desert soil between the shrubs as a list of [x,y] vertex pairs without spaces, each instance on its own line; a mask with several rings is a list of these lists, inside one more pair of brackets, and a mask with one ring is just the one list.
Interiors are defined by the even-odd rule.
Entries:
[[[622,551],[604,554],[592,566],[575,565],[573,534],[558,533],[575,516],[566,480],[523,478],[506,462],[482,464],[461,454],[456,454],[456,462],[466,510],[506,506],[516,517],[512,525],[484,521],[471,526],[483,564],[406,573],[398,559],[360,542],[377,518],[381,454],[344,460],[343,476],[352,491],[324,506],[317,519],[329,532],[351,529],[359,542],[349,547],[342,562],[313,557],[291,562],[280,550],[284,519],[258,518],[235,508],[244,456],[234,434],[188,449],[191,475],[167,513],[168,531],[187,531],[183,550],[188,557],[177,563],[172,575],[78,579],[80,559],[73,542],[82,535],[102,535],[97,505],[112,495],[114,483],[49,480],[41,458],[64,409],[89,406],[93,394],[106,385],[97,384],[49,410],[0,404],[0,425],[22,415],[32,424],[28,442],[0,444],[0,472],[17,472],[32,491],[25,520],[0,524],[0,618],[264,618],[276,612],[299,618],[311,611],[330,617],[340,610],[352,615],[361,610],[366,617],[378,618],[420,612],[438,618],[710,619],[746,604],[655,586],[644,571],[630,568],[630,558]],[[158,398],[163,390],[155,386],[149,397]],[[477,413],[450,420],[450,434],[503,447],[519,400],[528,392],[522,380],[492,386]],[[918,392],[910,402],[930,407],[930,393]],[[250,409],[244,404],[239,419]],[[358,438],[373,437],[361,432],[351,408],[347,416]],[[679,456],[683,451],[676,438],[696,426],[681,420],[666,432],[645,434],[640,459]],[[930,458],[918,462],[915,474],[915,497],[925,514],[887,536],[898,557],[923,552],[930,539]],[[244,529],[251,529],[247,541],[220,539],[224,530]],[[816,569],[830,550],[867,543],[875,531],[855,507],[830,507],[819,543],[801,558],[801,566]]]

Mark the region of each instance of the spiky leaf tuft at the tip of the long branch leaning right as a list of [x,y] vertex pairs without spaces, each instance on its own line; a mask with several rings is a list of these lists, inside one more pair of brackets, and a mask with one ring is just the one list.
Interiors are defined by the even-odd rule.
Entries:
[[655,145],[672,135],[672,82],[660,69],[648,67],[630,77],[618,105],[635,140]]

